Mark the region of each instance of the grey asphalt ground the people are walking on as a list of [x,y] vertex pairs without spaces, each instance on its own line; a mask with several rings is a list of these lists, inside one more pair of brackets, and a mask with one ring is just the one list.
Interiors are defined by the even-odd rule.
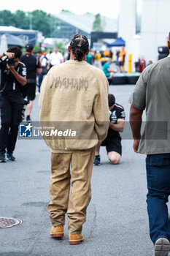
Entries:
[[[128,98],[134,86],[109,86],[128,120]],[[31,118],[38,121],[38,96]],[[145,156],[135,154],[132,140],[123,140],[119,165],[111,165],[104,147],[101,166],[93,167],[92,200],[82,233],[85,241],[69,245],[69,233],[50,237],[50,149],[43,140],[18,140],[16,162],[0,165],[0,217],[21,219],[21,225],[0,229],[0,256],[151,256]]]

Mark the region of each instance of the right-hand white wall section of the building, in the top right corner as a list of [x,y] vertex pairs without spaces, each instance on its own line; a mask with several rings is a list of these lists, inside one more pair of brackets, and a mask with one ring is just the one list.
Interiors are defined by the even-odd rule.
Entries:
[[145,59],[158,60],[158,46],[166,46],[169,35],[169,0],[143,0],[141,51]]

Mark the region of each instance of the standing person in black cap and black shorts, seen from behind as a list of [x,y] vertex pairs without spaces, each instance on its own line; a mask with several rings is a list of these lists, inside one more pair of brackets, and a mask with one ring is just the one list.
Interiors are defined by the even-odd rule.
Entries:
[[31,111],[33,108],[33,101],[36,97],[36,72],[41,74],[42,69],[39,64],[39,59],[33,55],[34,45],[28,43],[26,45],[26,54],[21,56],[20,61],[26,65],[27,75],[26,75],[26,90],[25,94],[29,100],[27,105],[27,116],[26,121],[31,121]]

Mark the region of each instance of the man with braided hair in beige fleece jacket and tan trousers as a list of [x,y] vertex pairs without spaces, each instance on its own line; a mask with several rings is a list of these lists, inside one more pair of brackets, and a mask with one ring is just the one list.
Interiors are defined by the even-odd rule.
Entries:
[[43,80],[39,106],[41,124],[57,124],[50,138],[44,136],[52,151],[47,207],[53,224],[50,235],[63,236],[67,214],[69,244],[80,244],[95,148],[109,127],[108,82],[101,69],[85,61],[89,52],[85,36],[75,35],[69,52],[70,60],[52,67]]

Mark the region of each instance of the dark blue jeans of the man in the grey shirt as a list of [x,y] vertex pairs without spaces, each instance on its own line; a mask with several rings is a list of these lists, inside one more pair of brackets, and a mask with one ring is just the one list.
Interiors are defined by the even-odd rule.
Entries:
[[147,212],[150,238],[170,241],[170,220],[166,203],[170,195],[170,154],[147,155]]

